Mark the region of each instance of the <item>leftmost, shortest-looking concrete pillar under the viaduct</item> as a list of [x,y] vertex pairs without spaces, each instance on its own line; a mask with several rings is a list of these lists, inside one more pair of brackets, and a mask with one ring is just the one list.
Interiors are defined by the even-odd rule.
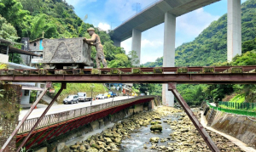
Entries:
[[138,63],[133,63],[135,66],[140,66],[141,62],[141,43],[142,43],[142,31],[137,29],[132,29],[132,40],[131,40],[131,50],[137,53]]

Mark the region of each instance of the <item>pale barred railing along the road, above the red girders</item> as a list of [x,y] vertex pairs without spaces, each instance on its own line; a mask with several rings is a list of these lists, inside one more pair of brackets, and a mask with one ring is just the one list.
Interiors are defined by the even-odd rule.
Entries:
[[[139,99],[152,99],[152,98],[154,98],[154,96],[143,96],[143,97],[113,101],[113,102],[109,102],[109,103],[105,103],[105,104],[91,105],[90,107],[84,107],[84,108],[80,108],[80,109],[76,109],[76,110],[68,110],[65,112],[57,113],[57,114],[45,115],[43,120],[40,121],[40,123],[38,124],[37,130],[40,128],[55,125],[60,122],[73,120],[73,119],[78,118],[83,115],[89,115],[89,114],[95,113],[97,111],[111,109],[111,108],[118,107],[118,106],[121,106],[124,104],[131,104]],[[18,134],[29,132],[37,121],[38,121],[38,118],[27,119],[23,123],[23,125],[20,127]],[[19,123],[20,123],[20,121],[19,121]]]

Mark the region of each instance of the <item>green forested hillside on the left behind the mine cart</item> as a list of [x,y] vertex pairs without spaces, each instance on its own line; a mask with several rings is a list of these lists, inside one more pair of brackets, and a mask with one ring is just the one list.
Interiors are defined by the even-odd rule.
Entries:
[[[0,0],[0,14],[3,16],[0,16],[0,27],[5,27],[0,29],[0,37],[16,42],[20,42],[19,37],[31,40],[42,37],[43,31],[44,38],[90,37],[86,30],[94,27],[80,19],[73,6],[63,0]],[[108,32],[96,28],[108,67],[131,67],[131,57],[125,54],[123,48],[113,46]],[[95,55],[93,48],[92,58]],[[21,60],[15,61],[19,63]]]

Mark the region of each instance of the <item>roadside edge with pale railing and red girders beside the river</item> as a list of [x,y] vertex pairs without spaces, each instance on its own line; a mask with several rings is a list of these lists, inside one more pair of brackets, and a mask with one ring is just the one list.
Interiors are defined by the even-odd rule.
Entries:
[[[91,121],[102,119],[108,115],[113,115],[120,110],[131,107],[132,105],[147,103],[153,99],[154,96],[143,96],[108,102],[105,104],[94,104],[76,110],[67,110],[61,113],[44,115],[42,121],[38,123],[38,127],[35,128],[30,138],[27,139],[25,147],[26,149],[30,149],[33,145],[41,144],[44,141],[50,141],[55,137],[59,137],[67,132],[83,127]],[[37,121],[38,117],[24,121],[16,136],[17,145],[20,145],[22,140],[27,137]]]

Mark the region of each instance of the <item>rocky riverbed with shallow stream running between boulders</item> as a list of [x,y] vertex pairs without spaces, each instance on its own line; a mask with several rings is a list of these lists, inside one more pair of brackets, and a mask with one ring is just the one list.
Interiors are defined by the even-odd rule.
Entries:
[[[227,138],[207,131],[220,151],[242,151]],[[64,152],[210,151],[189,117],[170,107],[142,112],[101,133],[65,147]]]

